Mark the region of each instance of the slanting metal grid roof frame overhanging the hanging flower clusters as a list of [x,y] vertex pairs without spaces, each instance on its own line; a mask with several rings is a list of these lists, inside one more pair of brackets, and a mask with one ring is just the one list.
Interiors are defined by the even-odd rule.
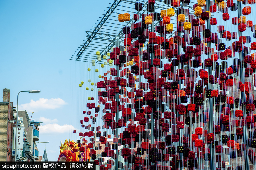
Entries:
[[[136,2],[140,2],[144,5],[141,11],[136,11],[134,9]],[[82,42],[82,45],[80,45],[77,51],[75,51],[70,60],[83,62],[91,62],[91,60],[96,60],[96,63],[103,64],[106,60],[101,58],[101,61],[97,61],[96,51],[100,51],[101,56],[111,52],[111,48],[115,47],[115,42],[117,40],[120,43],[123,43],[125,38],[125,35],[123,34],[123,27],[131,26],[131,24],[141,21],[135,21],[131,19],[129,22],[118,22],[118,14],[129,13],[132,15],[137,13],[141,18],[142,14],[147,14],[146,4],[147,0],[113,0],[113,3],[110,3],[111,6],[106,11],[106,14],[103,14],[104,16],[100,17],[101,20],[97,20],[99,23],[96,27],[93,27],[94,30],[86,31],[86,40],[83,40],[84,42]],[[156,0],[155,7],[156,12],[159,13],[160,10],[173,8],[170,5],[166,5],[164,0]],[[190,9],[190,11],[193,10],[193,7],[191,6],[183,7]],[[174,29],[176,29],[176,22],[173,22],[173,24]],[[159,21],[154,22],[154,26],[157,25],[159,25]],[[169,34],[168,38],[173,36],[174,32]],[[144,50],[145,49],[146,47],[144,47]]]

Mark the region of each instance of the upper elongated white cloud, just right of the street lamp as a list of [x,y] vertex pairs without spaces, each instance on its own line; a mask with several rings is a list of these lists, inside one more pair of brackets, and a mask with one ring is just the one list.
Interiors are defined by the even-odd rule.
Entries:
[[30,103],[21,104],[19,106],[19,110],[27,110],[28,112],[34,112],[38,110],[44,109],[56,109],[60,108],[61,106],[67,104],[61,98],[40,98],[39,100],[30,100]]

